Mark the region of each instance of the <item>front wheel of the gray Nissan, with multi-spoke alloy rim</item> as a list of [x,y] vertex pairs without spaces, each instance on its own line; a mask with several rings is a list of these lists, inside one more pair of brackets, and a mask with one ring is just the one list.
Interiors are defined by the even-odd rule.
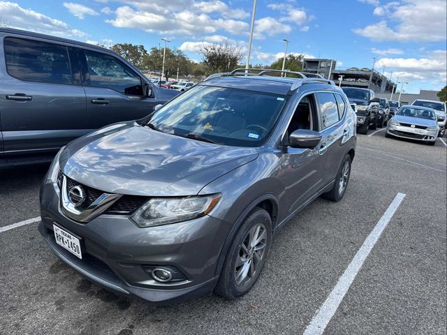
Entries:
[[228,249],[214,292],[233,300],[253,287],[263,269],[272,240],[272,219],[256,207],[242,223]]

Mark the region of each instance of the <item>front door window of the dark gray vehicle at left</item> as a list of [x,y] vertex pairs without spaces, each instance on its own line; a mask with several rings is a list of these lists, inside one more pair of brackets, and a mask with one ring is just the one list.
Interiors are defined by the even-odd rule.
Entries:
[[89,86],[113,89],[121,94],[142,96],[141,78],[122,61],[101,52],[84,50]]

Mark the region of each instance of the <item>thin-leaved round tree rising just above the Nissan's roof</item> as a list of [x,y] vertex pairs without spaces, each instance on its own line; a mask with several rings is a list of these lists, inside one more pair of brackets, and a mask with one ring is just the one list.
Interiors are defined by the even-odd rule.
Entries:
[[242,49],[235,45],[211,44],[201,50],[203,64],[208,68],[208,74],[228,72],[237,67],[244,58]]

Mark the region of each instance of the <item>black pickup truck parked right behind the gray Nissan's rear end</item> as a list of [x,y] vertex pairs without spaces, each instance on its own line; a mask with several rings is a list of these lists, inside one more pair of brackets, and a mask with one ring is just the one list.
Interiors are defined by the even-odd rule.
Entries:
[[357,105],[357,132],[366,135],[368,129],[376,129],[379,122],[379,98],[371,89],[343,87],[350,103]]

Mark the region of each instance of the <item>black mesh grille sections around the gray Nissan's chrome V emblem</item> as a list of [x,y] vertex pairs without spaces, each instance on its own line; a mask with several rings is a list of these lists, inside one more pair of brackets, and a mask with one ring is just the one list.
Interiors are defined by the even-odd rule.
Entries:
[[[75,186],[81,186],[87,193],[87,199],[79,208],[81,211],[87,209],[87,207],[89,207],[96,199],[98,199],[99,197],[101,197],[101,195],[103,195],[103,193],[105,193],[96,188],[91,188],[89,186],[80,184],[78,183],[78,181],[75,181],[68,177],[66,177],[66,181],[67,190],[71,190],[71,188]],[[105,211],[105,214],[131,214],[133,213],[133,211],[138,209],[138,207],[140,207],[146,200],[147,197],[140,195],[123,195],[117,200],[117,202],[115,202],[115,204],[112,204],[112,207]]]

